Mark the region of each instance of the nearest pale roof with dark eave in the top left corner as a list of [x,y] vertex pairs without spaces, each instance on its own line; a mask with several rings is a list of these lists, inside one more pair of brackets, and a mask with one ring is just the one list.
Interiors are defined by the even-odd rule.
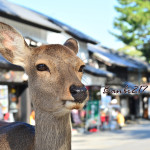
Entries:
[[1,16],[45,30],[54,32],[62,31],[60,27],[48,21],[44,16],[32,11],[31,9],[19,6],[7,0],[0,0],[0,14]]

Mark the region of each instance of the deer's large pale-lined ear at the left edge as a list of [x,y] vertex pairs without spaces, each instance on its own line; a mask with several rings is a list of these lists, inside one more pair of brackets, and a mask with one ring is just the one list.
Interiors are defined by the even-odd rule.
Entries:
[[30,52],[24,38],[13,27],[0,22],[0,53],[13,64],[25,66],[25,56]]

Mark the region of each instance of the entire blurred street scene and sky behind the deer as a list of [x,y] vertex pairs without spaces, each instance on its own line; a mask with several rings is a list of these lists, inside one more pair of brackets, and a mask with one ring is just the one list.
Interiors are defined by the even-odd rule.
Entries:
[[[89,90],[71,113],[73,150],[149,150],[150,0],[0,0],[31,47],[78,40]],[[0,119],[35,125],[28,76],[0,55]]]

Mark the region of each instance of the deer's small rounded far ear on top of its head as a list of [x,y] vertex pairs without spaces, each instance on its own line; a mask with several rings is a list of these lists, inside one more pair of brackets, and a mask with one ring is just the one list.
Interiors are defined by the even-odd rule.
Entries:
[[79,44],[78,44],[78,42],[77,42],[75,39],[73,39],[73,38],[68,39],[68,40],[64,43],[64,45],[65,45],[66,47],[70,48],[71,50],[73,50],[75,54],[78,53]]

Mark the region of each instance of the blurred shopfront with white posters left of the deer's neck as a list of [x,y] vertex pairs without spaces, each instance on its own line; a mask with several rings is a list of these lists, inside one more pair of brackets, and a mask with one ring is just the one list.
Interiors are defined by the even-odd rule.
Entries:
[[27,75],[0,56],[0,107],[6,121],[27,121]]

